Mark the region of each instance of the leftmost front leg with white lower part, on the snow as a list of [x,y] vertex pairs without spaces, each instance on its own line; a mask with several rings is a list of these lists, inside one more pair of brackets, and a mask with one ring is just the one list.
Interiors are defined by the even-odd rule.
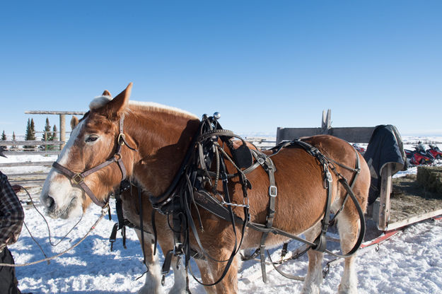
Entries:
[[161,269],[158,262],[158,254],[153,255],[153,235],[144,233],[144,244],[141,244],[141,233],[139,230],[135,230],[140,245],[144,247],[144,253],[146,254],[146,281],[143,287],[138,291],[138,294],[158,294],[163,293],[163,287],[161,286]]

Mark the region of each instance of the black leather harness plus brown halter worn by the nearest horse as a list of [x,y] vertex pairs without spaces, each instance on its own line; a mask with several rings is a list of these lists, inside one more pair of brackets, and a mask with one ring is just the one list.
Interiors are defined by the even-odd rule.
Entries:
[[[124,115],[122,115],[122,117],[120,118],[120,133],[117,136],[117,151],[115,152],[114,155],[112,155],[110,159],[106,160],[100,165],[92,167],[90,170],[86,170],[85,172],[73,172],[57,162],[54,162],[52,164],[52,166],[55,169],[57,169],[63,175],[65,175],[70,180],[72,180],[74,184],[78,184],[83,189],[83,191],[86,192],[86,194],[88,194],[88,196],[92,199],[92,201],[100,207],[104,207],[108,204],[109,196],[105,201],[99,201],[97,197],[93,194],[93,192],[91,192],[91,189],[89,189],[89,187],[86,185],[84,179],[88,175],[91,175],[93,172],[97,172],[98,170],[101,170],[107,165],[110,165],[112,163],[117,163],[117,165],[120,167],[120,170],[122,172],[122,181],[126,179],[127,172],[122,162],[121,148],[122,146],[126,145],[128,148],[132,149],[133,151],[136,151],[136,149],[132,148],[131,146],[129,146],[129,144],[127,144],[127,141],[125,140],[123,133],[123,124],[124,124]],[[231,143],[232,138],[240,139],[240,141],[242,141],[243,145],[240,146],[240,148],[238,149],[241,149],[243,154],[249,152],[252,155],[252,158],[255,159],[254,163],[253,160],[251,161],[242,160],[243,162],[241,163],[241,159],[238,159],[240,158],[240,156],[237,156],[238,158],[235,158],[235,149],[232,148],[233,144]],[[226,143],[226,145],[231,149],[231,153],[233,154],[233,156],[229,156],[223,150],[223,147],[219,144],[219,139],[221,139],[221,142],[223,144]],[[314,156],[322,165],[324,189],[327,189],[327,200],[325,205],[324,217],[321,220],[322,223],[321,232],[314,242],[309,242],[307,240],[302,239],[301,237],[292,235],[291,233],[287,233],[284,232],[283,230],[279,230],[278,228],[273,227],[273,220],[276,213],[275,199],[277,197],[277,186],[274,180],[274,172],[276,171],[276,167],[274,166],[271,157],[279,153],[279,151],[281,151],[282,148],[286,148],[289,146],[301,146],[306,152]],[[151,201],[151,204],[154,208],[152,213],[152,223],[153,223],[153,235],[155,236],[155,243],[156,243],[156,225],[154,217],[155,211],[158,211],[168,216],[172,215],[173,217],[173,225],[171,226],[171,229],[174,232],[175,247],[173,250],[170,250],[170,252],[167,252],[165,254],[165,264],[163,265],[163,277],[169,271],[170,260],[173,256],[180,257],[180,255],[185,254],[186,269],[190,269],[189,261],[191,257],[209,258],[217,261],[204,250],[204,247],[202,246],[202,243],[199,240],[198,230],[192,218],[192,213],[191,213],[192,207],[204,208],[204,210],[213,213],[219,218],[231,222],[233,232],[235,234],[235,246],[233,247],[231,256],[227,260],[220,261],[220,262],[226,262],[226,266],[221,277],[214,283],[210,284],[204,284],[201,281],[198,281],[197,278],[194,277],[198,283],[201,283],[204,286],[213,286],[216,283],[219,283],[219,281],[221,281],[223,277],[226,275],[235,255],[240,250],[240,245],[241,242],[243,241],[245,228],[252,228],[253,230],[262,232],[259,252],[260,252],[260,259],[262,266],[262,279],[264,283],[267,281],[266,271],[265,271],[264,250],[265,250],[265,240],[267,239],[269,233],[283,235],[293,240],[298,240],[300,242],[305,243],[308,246],[307,249],[311,248],[318,250],[320,252],[327,252],[337,257],[349,257],[356,252],[356,250],[361,245],[362,240],[364,239],[364,233],[365,233],[364,213],[361,207],[359,206],[356,196],[352,192],[352,187],[356,182],[356,177],[360,170],[359,156],[357,154],[357,151],[355,151],[356,166],[354,168],[347,167],[345,165],[337,163],[335,160],[332,160],[331,158],[327,158],[325,155],[320,153],[318,148],[315,148],[314,146],[311,146],[310,144],[300,140],[281,143],[278,146],[272,148],[272,151],[273,153],[271,155],[265,155],[260,151],[248,149],[245,146],[245,141],[242,138],[240,138],[240,136],[233,134],[233,132],[231,131],[222,129],[216,117],[207,117],[207,115],[204,114],[202,122],[199,125],[197,134],[193,137],[192,143],[190,144],[190,148],[187,150],[185,158],[182,161],[182,165],[178,170],[178,172],[175,174],[172,183],[161,196],[149,197],[149,200]],[[234,174],[228,174],[224,160],[228,160],[233,164],[233,166],[236,169],[236,172]],[[212,166],[212,164],[216,165],[215,171],[210,170],[209,168]],[[337,172],[335,165],[339,165],[340,167],[344,167],[345,169],[354,172],[354,177],[351,180],[351,185],[349,185],[347,183],[347,180],[342,175],[340,175],[339,172]],[[264,224],[252,223],[250,221],[250,214],[249,214],[250,207],[248,204],[247,191],[248,189],[251,189],[251,185],[250,182],[248,182],[247,177],[245,176],[259,166],[264,168],[264,170],[267,172],[267,175],[269,176],[269,192],[268,192],[269,206],[267,208],[266,223]],[[334,172],[335,175],[337,175],[339,182],[347,190],[347,195],[344,198],[343,204],[341,208],[339,208],[339,211],[335,213],[335,217],[332,218],[332,220],[330,220],[330,206],[332,199],[332,175],[330,173],[330,170],[332,170],[332,172]],[[228,192],[228,179],[232,177],[239,177],[240,179],[240,183],[243,187],[243,204],[234,204],[231,202],[230,195]],[[212,195],[212,194],[218,194],[216,192],[216,187],[218,186],[219,180],[222,181],[222,187],[223,187],[223,195],[220,195],[222,196],[223,199],[222,201],[220,201],[219,199],[217,199],[215,196]],[[207,189],[205,188],[207,186],[211,187],[212,193],[207,191]],[[356,210],[359,213],[359,218],[361,220],[361,230],[359,232],[359,238],[356,241],[354,247],[349,252],[347,252],[347,254],[340,255],[327,250],[325,233],[327,233],[327,228],[329,224],[333,220],[335,220],[336,216],[344,208],[344,205],[346,204],[348,198],[351,198],[351,200],[354,202]],[[140,205],[142,206],[141,187],[139,187],[139,202]],[[235,213],[233,213],[232,210],[233,206],[243,208],[245,215],[244,219],[236,216]],[[121,212],[121,209],[117,209],[117,211]],[[198,211],[198,209],[196,209],[196,211]],[[122,214],[122,212],[117,214]],[[135,225],[129,223],[129,221],[124,220],[124,218],[121,216],[122,224],[119,224],[118,227],[115,228],[119,229],[124,227],[124,225],[129,225],[129,226],[132,225],[132,228],[137,228],[141,230],[141,243],[143,243],[145,231],[143,229],[142,214],[143,214],[142,211],[140,211],[140,227],[136,227]],[[198,212],[197,212],[197,218],[199,218]],[[120,215],[119,215],[119,223],[120,223]],[[237,244],[236,241],[237,240],[236,238],[237,232],[235,228],[236,224],[242,226],[239,244]],[[199,227],[200,230],[204,230],[204,228],[202,228],[202,221],[200,219],[199,219]],[[115,240],[115,234],[116,234],[115,228],[114,230],[112,230],[112,235],[111,235],[112,240]],[[197,241],[197,244],[199,245],[199,252],[202,252],[202,254],[204,254],[204,257],[197,254],[197,252],[190,247],[190,236],[189,236],[190,230],[192,230],[194,238]],[[141,247],[143,248],[143,246]],[[190,272],[192,273],[192,269],[190,269]],[[289,275],[285,275],[284,273],[281,274],[290,278]]]

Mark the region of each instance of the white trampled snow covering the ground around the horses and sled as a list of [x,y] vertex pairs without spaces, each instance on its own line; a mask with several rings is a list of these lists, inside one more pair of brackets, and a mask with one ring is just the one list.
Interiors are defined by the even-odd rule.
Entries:
[[[406,137],[409,143],[405,148],[411,148],[417,141],[441,142],[441,137]],[[441,144],[438,144],[442,147]],[[17,161],[47,161],[39,155],[10,156],[0,158],[0,163]],[[440,163],[439,163],[440,164]],[[2,168],[4,173],[47,171],[47,167],[26,167],[18,170],[17,167]],[[416,172],[416,167],[399,175]],[[22,192],[21,192],[22,193]],[[34,196],[38,189],[31,189]],[[23,196],[23,194],[21,194]],[[112,204],[112,207],[115,207]],[[80,224],[74,228],[69,236],[62,240],[56,247],[48,242],[47,228],[42,217],[33,208],[25,209],[25,223],[47,256],[52,256],[64,251],[77,242],[87,233],[91,225],[100,216],[100,208],[91,206],[84,214]],[[127,249],[122,247],[121,238],[117,239],[114,251],[110,252],[109,236],[117,216],[112,208],[112,220],[107,216],[96,225],[84,242],[62,257],[40,264],[16,268],[19,288],[24,293],[136,293],[144,284],[144,277],[139,278],[144,272],[142,264],[141,247],[133,230],[127,231]],[[78,221],[53,220],[49,225],[52,242],[58,242]],[[118,234],[120,235],[120,234]],[[291,242],[289,249],[298,246]],[[330,246],[335,246],[330,243]],[[15,245],[9,247],[16,260],[16,264],[25,264],[45,258],[39,247],[35,245],[32,237],[23,226],[21,236]],[[163,255],[160,253],[161,262]],[[280,249],[272,251],[272,258],[279,259]],[[325,255],[324,265],[333,259]],[[442,220],[425,220],[421,223],[410,225],[390,240],[383,242],[378,247],[368,247],[358,253],[356,259],[357,274],[359,278],[359,293],[442,293]],[[283,270],[298,276],[306,274],[307,257],[291,261],[283,266]],[[196,268],[196,266],[194,266]],[[267,266],[269,269],[269,266]],[[321,293],[336,293],[342,274],[342,264],[335,264],[330,269],[330,274],[322,283]],[[250,278],[252,277],[252,278]],[[137,280],[137,278],[139,278]],[[276,271],[270,272],[269,283],[262,283],[260,265],[257,261],[243,263],[239,278],[240,293],[299,293],[301,282],[288,280]],[[173,274],[165,278],[165,293],[173,285]],[[192,293],[204,293],[202,286],[190,278]]]

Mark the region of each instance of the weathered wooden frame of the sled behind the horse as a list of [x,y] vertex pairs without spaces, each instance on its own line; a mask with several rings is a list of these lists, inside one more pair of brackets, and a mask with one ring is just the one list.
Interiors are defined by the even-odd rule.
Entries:
[[[351,143],[368,143],[376,127],[331,127],[331,110],[322,112],[322,124],[319,128],[282,128],[277,129],[277,143],[281,141],[291,141],[303,136],[314,136],[319,134],[329,134],[337,136],[340,139]],[[378,226],[378,230],[389,231],[397,228],[402,228],[410,223],[416,223],[420,220],[439,216],[442,214],[442,200],[441,203],[434,204],[431,202],[431,208],[426,211],[419,212],[415,215],[406,216],[405,218],[395,218],[392,214],[392,163],[388,163],[383,167],[380,184],[380,196],[376,201],[368,206],[368,217],[371,217]],[[424,188],[422,188],[424,189]],[[420,200],[419,200],[420,201]],[[420,203],[423,203],[422,199]],[[418,202],[419,203],[419,202]],[[393,209],[395,211],[395,209]]]

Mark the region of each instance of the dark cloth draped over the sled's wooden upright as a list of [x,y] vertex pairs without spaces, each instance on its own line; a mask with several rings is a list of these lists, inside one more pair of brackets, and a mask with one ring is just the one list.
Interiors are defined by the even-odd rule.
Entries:
[[371,134],[364,158],[370,167],[371,184],[368,204],[372,204],[380,193],[380,175],[388,163],[392,163],[392,175],[407,170],[404,147],[399,131],[391,124],[377,126]]

